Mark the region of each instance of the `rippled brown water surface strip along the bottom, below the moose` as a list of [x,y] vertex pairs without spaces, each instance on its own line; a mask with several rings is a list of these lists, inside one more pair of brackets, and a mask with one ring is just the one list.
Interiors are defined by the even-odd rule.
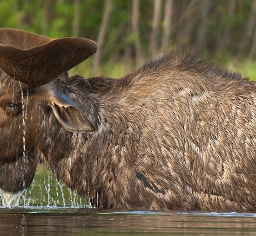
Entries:
[[254,235],[256,213],[0,209],[0,235]]

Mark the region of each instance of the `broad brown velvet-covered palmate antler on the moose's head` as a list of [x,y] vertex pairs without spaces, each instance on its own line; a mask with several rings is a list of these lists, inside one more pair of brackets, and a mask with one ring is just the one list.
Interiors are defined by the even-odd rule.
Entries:
[[97,51],[87,38],[47,38],[0,28],[0,67],[29,88],[46,84]]

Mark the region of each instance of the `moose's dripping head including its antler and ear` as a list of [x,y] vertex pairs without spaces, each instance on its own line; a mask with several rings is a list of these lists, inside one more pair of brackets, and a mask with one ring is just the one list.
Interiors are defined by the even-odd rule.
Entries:
[[48,121],[55,119],[72,132],[94,132],[78,105],[53,81],[64,83],[66,72],[96,50],[96,43],[86,38],[0,29],[0,188],[17,192],[30,185],[37,162],[34,141],[47,136],[42,131],[51,128]]

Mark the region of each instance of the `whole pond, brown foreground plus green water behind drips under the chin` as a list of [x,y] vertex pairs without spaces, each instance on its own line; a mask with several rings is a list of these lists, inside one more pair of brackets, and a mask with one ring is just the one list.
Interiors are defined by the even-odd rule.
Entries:
[[40,166],[32,186],[14,203],[1,202],[0,235],[256,235],[256,212],[90,208]]

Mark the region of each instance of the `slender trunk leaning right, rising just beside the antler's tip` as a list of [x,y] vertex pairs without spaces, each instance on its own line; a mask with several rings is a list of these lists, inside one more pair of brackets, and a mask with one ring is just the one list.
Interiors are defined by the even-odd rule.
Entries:
[[96,52],[94,57],[95,59],[94,59],[93,74],[99,69],[101,64],[103,45],[105,43],[108,21],[110,19],[111,11],[112,11],[112,0],[105,0],[103,18],[101,20],[100,31],[97,38],[98,51]]

